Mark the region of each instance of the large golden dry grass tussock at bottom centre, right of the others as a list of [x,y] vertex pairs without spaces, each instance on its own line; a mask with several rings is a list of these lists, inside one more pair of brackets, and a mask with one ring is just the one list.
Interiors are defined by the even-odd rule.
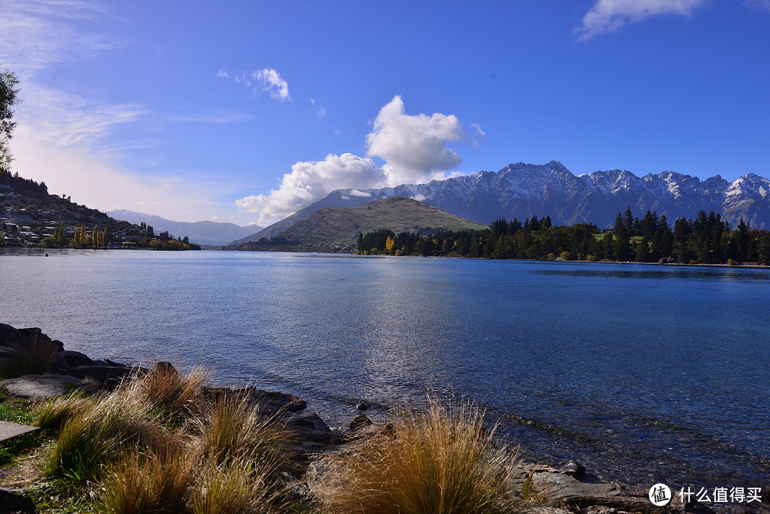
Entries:
[[508,491],[516,459],[494,441],[484,416],[465,403],[447,409],[431,399],[392,430],[353,442],[326,459],[314,486],[330,514],[502,514],[520,510]]

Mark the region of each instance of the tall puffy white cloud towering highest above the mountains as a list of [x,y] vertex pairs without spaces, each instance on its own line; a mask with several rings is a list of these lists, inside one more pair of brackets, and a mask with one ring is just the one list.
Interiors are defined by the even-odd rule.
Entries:
[[379,156],[387,164],[383,171],[388,185],[420,184],[441,179],[460,165],[460,155],[447,148],[447,141],[463,137],[463,127],[454,115],[407,115],[403,100],[396,96],[380,109],[374,129],[367,135],[367,155]]

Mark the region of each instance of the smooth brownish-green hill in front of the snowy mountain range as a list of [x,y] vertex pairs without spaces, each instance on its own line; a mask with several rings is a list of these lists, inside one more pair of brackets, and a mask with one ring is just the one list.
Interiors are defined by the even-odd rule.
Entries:
[[313,246],[355,245],[359,233],[390,229],[426,232],[437,229],[485,229],[487,225],[449,214],[433,205],[393,196],[360,207],[326,207],[300,220],[273,239],[250,242],[244,249],[310,249]]

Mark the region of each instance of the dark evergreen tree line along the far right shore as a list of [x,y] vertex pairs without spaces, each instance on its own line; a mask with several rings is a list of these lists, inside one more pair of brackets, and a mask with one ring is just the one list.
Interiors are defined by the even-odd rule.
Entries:
[[524,223],[497,219],[487,229],[434,233],[380,229],[358,236],[360,255],[423,255],[482,259],[658,262],[678,264],[770,265],[770,232],[738,222],[731,229],[721,215],[698,212],[671,226],[665,215],[648,211],[634,218],[629,206],[613,229],[596,225],[551,225],[550,216]]

